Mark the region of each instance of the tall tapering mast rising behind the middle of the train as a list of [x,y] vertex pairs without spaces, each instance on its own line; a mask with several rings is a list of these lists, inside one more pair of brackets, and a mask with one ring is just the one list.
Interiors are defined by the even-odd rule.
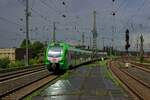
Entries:
[[93,57],[97,53],[97,30],[96,30],[96,11],[93,11]]

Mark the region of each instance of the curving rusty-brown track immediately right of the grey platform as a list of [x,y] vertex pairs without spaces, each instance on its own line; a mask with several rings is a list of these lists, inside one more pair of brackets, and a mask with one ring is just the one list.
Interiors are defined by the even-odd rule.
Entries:
[[111,71],[125,84],[128,89],[141,100],[149,100],[150,86],[128,71],[119,68],[117,62],[111,62]]

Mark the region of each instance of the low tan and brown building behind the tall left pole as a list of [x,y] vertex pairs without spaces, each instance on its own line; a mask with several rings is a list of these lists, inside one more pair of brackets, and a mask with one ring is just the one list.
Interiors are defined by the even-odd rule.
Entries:
[[[24,48],[0,48],[0,58],[9,58],[12,62],[25,59],[26,49]],[[29,50],[29,58],[32,57],[32,50]]]

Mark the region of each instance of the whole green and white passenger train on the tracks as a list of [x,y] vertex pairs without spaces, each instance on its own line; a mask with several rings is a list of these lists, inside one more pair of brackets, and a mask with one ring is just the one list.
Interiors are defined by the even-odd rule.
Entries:
[[91,60],[92,51],[74,48],[66,43],[49,43],[45,52],[45,65],[49,71],[59,73]]

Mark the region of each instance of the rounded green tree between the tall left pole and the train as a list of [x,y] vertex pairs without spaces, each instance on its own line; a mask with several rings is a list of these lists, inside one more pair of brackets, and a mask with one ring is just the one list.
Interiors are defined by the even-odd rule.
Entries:
[[35,41],[31,48],[33,49],[33,56],[38,57],[38,55],[41,53],[41,51],[44,50],[44,44],[40,41]]

